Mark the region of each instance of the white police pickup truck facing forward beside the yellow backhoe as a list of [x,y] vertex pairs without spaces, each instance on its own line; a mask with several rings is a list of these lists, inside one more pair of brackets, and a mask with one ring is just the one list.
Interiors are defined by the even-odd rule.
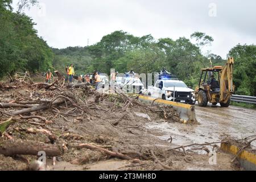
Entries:
[[195,90],[179,80],[158,80],[155,86],[148,87],[148,96],[167,101],[195,105]]

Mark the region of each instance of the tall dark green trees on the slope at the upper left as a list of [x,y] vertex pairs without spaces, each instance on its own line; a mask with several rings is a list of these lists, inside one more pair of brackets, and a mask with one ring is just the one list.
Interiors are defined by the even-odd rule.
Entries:
[[[11,2],[0,0],[0,77],[19,69],[45,71],[52,64],[52,49],[38,37],[31,18],[21,9],[13,12]],[[22,6],[28,5],[23,2]]]

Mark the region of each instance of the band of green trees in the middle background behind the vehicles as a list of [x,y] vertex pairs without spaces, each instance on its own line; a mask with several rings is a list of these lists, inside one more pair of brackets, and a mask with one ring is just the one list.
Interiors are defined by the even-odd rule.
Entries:
[[[213,40],[210,36],[207,38]],[[201,40],[200,37],[198,41],[208,40]],[[166,67],[191,86],[197,85],[200,69],[210,66],[209,59],[202,55],[200,47],[187,38],[156,40],[151,35],[137,37],[124,31],[106,35],[93,46],[53,49],[53,52],[56,55],[53,67],[60,70],[64,70],[67,63],[75,64],[77,73],[97,70],[109,74],[111,68],[119,73],[125,73],[129,69],[134,69],[137,73],[152,73],[160,72],[160,69]],[[225,63],[220,56],[210,57],[213,64]]]

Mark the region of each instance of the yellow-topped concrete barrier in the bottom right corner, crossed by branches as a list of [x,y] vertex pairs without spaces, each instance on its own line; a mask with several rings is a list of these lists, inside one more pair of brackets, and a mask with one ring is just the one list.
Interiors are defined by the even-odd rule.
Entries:
[[[233,146],[230,143],[222,143],[221,150],[228,152],[232,155],[237,155],[239,148],[237,146]],[[240,162],[240,166],[247,171],[256,171],[256,155],[252,152],[244,150],[238,155],[238,160]]]

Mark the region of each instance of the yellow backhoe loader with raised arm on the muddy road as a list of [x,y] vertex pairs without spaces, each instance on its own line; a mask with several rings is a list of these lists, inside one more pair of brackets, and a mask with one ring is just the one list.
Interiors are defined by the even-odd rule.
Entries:
[[234,59],[230,57],[224,67],[202,69],[199,88],[196,89],[198,105],[206,107],[220,103],[222,107],[229,107],[230,98],[234,92],[233,85]]

